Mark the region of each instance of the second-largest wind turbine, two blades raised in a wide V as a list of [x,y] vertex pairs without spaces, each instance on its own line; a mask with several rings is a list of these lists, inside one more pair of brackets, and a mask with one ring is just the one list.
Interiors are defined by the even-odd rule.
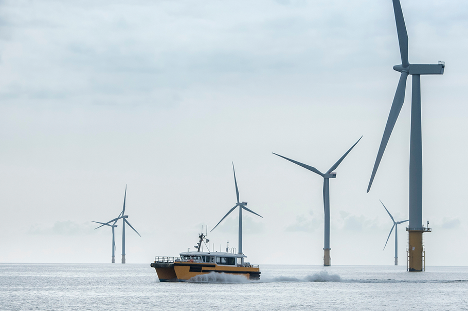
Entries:
[[[363,137],[361,136],[361,138]],[[336,178],[336,173],[332,171],[338,167],[338,165],[341,163],[341,161],[345,159],[346,156],[348,156],[348,153],[361,140],[361,138],[359,138],[357,142],[351,148],[349,148],[348,151],[346,151],[343,157],[341,157],[335,164],[333,164],[333,166],[330,167],[330,169],[326,173],[320,172],[315,167],[291,160],[289,158],[280,156],[279,154],[275,152],[272,152],[273,154],[276,154],[278,157],[286,159],[287,161],[291,161],[323,177],[323,209],[325,210],[325,242],[323,246],[323,265],[327,267],[330,266],[330,249],[331,249],[330,248],[330,178]]]

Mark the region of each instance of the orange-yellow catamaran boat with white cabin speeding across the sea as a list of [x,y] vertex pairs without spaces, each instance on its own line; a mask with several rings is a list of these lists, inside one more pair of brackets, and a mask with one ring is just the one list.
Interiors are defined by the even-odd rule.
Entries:
[[[159,281],[184,282],[210,273],[241,275],[249,280],[260,279],[259,266],[244,262],[247,257],[244,254],[233,254],[228,251],[201,251],[205,238],[206,234],[202,232],[199,235],[200,241],[195,246],[197,251],[181,252],[180,257],[156,256],[151,267],[156,269]],[[209,242],[209,240],[206,241]]]

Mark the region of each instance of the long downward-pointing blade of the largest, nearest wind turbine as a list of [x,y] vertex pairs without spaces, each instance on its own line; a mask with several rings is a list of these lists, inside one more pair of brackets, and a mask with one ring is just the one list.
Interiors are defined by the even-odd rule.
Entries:
[[380,143],[379,152],[377,152],[377,158],[375,159],[374,168],[372,169],[372,175],[370,177],[369,186],[367,187],[367,192],[369,192],[372,182],[374,181],[375,173],[377,168],[379,168],[380,161],[384,155],[385,148],[387,147],[388,140],[390,139],[390,134],[397,122],[398,115],[400,114],[403,103],[405,102],[405,90],[406,90],[406,77],[408,73],[403,71],[400,76],[400,81],[398,82],[397,91],[393,98],[393,103],[390,108],[390,113],[388,114],[387,125],[385,126],[384,135],[382,137],[382,142]]

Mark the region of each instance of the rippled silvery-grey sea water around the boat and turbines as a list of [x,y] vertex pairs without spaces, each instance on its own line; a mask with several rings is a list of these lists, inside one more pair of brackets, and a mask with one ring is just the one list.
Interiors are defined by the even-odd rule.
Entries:
[[468,267],[262,265],[159,282],[150,264],[0,264],[1,310],[468,310]]

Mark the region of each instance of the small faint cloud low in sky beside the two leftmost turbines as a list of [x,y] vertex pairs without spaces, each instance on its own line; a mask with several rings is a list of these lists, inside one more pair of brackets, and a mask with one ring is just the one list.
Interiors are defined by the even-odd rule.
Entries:
[[57,235],[57,236],[82,236],[93,232],[94,226],[90,223],[77,223],[71,220],[56,221],[51,227],[38,224],[32,225],[28,234],[30,235]]

